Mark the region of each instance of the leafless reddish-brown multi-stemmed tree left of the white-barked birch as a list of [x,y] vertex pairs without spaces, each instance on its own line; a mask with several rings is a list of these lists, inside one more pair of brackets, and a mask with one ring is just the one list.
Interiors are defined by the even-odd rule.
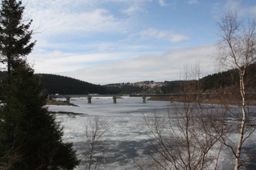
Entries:
[[199,62],[191,68],[184,67],[183,79],[186,81],[180,91],[184,102],[175,104],[167,114],[155,112],[151,117],[145,117],[155,151],[150,155],[154,162],[150,168],[217,168],[223,146],[219,138],[229,130],[223,110],[201,104],[202,99],[197,96],[201,92],[200,74]]

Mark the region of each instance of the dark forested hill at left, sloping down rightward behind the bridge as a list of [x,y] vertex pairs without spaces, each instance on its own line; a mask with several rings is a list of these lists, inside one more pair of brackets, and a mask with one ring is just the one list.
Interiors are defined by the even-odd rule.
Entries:
[[[35,75],[35,79],[39,82],[38,74]],[[41,74],[41,84],[48,94],[87,95],[108,93],[106,88],[100,85],[56,74]]]

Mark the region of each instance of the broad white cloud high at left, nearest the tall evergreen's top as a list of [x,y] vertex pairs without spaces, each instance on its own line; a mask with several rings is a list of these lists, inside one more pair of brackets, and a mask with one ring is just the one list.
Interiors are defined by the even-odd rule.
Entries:
[[[125,32],[128,27],[127,21],[115,19],[109,11],[97,9],[83,13],[62,13],[55,15],[54,11],[37,11],[33,16],[35,25],[41,24],[44,36],[61,35],[63,33],[81,32]],[[84,36],[84,35],[80,35]]]

